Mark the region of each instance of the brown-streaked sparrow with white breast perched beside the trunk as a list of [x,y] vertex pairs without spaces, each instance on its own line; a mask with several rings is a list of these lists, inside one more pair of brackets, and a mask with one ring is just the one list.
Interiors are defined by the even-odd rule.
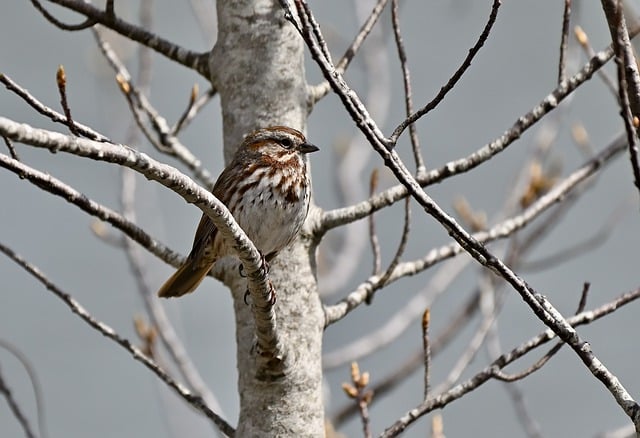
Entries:
[[[310,181],[304,155],[317,150],[295,129],[259,129],[244,139],[213,187],[267,262],[295,239],[307,217]],[[202,215],[191,253],[158,296],[192,292],[217,260],[232,254],[217,231]]]

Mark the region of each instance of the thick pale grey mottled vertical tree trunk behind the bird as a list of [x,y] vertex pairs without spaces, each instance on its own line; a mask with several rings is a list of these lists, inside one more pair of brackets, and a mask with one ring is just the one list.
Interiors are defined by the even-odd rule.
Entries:
[[[277,2],[218,1],[218,39],[211,82],[222,105],[224,156],[259,127],[305,131],[308,114],[304,44]],[[313,208],[312,208],[313,211]],[[255,325],[237,266],[222,278],[236,317],[240,417],[236,436],[324,436],[321,350],[324,314],[317,292],[312,242],[302,235],[271,264],[277,328],[284,348],[280,376],[259,372]]]

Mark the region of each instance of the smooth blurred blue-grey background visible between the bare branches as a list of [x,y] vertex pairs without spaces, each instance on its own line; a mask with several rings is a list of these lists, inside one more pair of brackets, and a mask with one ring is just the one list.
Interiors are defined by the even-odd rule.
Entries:
[[[118,15],[138,22],[138,1],[116,3]],[[413,98],[419,107],[435,96],[475,43],[489,16],[491,1],[401,3],[401,27],[411,68]],[[463,79],[435,111],[417,123],[427,168],[467,156],[497,138],[556,87],[563,3],[504,2],[491,35]],[[116,142],[125,142],[130,112],[91,32],[63,32],[46,22],[30,2],[10,0],[9,4],[0,15],[0,72],[59,110],[55,73],[59,65],[64,65],[75,120]],[[371,2],[333,0],[310,4],[337,59],[370,11]],[[62,8],[46,6],[65,22],[82,21]],[[628,2],[628,6],[636,5]],[[606,47],[610,35],[600,3],[575,1],[573,8],[571,28],[580,25],[595,50]],[[156,0],[153,11],[154,31],[162,37],[191,50],[206,51],[212,47],[213,4]],[[586,62],[586,57],[576,48],[573,31],[569,40],[567,73],[571,75]],[[110,41],[135,72],[137,46],[119,37],[111,37]],[[186,107],[193,84],[198,83],[202,92],[208,88],[207,83],[160,56],[153,56],[153,64],[149,98],[173,122]],[[605,70],[615,78],[613,65]],[[311,60],[307,63],[307,76],[311,84],[321,81]],[[381,18],[378,33],[371,36],[346,77],[389,134],[403,119],[405,110],[388,10]],[[5,89],[0,90],[0,115],[65,132],[61,125],[52,125]],[[587,134],[586,140],[582,137],[582,147],[572,135],[580,129]],[[593,151],[607,146],[622,129],[615,97],[594,76],[558,115],[547,116],[504,153],[470,173],[426,190],[452,214],[454,201],[463,197],[474,210],[486,212],[489,224],[493,224],[504,217],[503,207],[514,196],[513,189],[522,181],[523,174],[526,180],[527,163],[540,144],[553,139],[542,164],[562,177],[578,168]],[[369,151],[335,96],[330,94],[317,104],[309,119],[308,137],[322,148],[321,153],[314,154],[312,162],[315,198],[321,207],[332,209],[365,199],[374,168],[380,169],[379,190],[394,184],[392,175]],[[221,171],[222,132],[215,98],[180,138],[214,175]],[[406,162],[411,163],[408,138],[406,134],[401,138],[398,149]],[[116,166],[16,146],[25,163],[62,179],[97,202],[119,208],[120,171]],[[148,143],[140,142],[138,146],[180,167]],[[96,318],[137,341],[132,321],[144,309],[122,249],[95,236],[91,231],[92,217],[14,174],[0,171],[0,187],[0,241],[36,264]],[[188,252],[200,217],[195,207],[160,185],[137,178],[136,209],[138,224],[151,235],[177,251]],[[402,203],[376,215],[383,266],[395,252],[402,220]],[[517,272],[566,315],[575,311],[583,283],[587,281],[591,283],[587,308],[599,306],[639,286],[638,224],[638,191],[634,190],[625,153],[605,168],[550,234],[527,253],[522,269]],[[602,232],[603,229],[608,232]],[[117,231],[109,230],[108,235],[118,235]],[[603,238],[588,251],[580,251],[545,269],[534,269],[533,262],[594,236]],[[449,241],[441,226],[414,208],[405,260],[419,258]],[[491,246],[498,254],[503,253],[503,247],[502,243]],[[459,259],[464,261],[464,257]],[[326,374],[328,419],[350,402],[340,389],[341,383],[349,380],[350,360],[340,349],[362,337],[377,336],[378,330],[389,333],[391,327],[385,324],[395,315],[396,320],[406,323],[407,330],[390,345],[358,361],[362,370],[371,373],[372,383],[397,370],[419,350],[422,342],[419,318],[411,320],[406,312],[398,312],[412,303],[410,300],[417,294],[429,292],[425,288],[432,284],[440,269],[452,272],[459,267],[459,259],[394,283],[379,292],[370,306],[362,306],[328,328],[324,351],[335,365]],[[458,265],[452,265],[455,263]],[[371,275],[371,266],[366,222],[349,227],[346,232],[330,233],[319,255],[319,281],[325,302],[335,303],[364,282]],[[145,268],[155,281],[153,287],[158,287],[172,272],[172,268],[146,254]],[[431,333],[437,334],[446,327],[454,309],[472,296],[481,272],[471,262],[454,276],[446,293],[431,305]],[[17,347],[37,373],[49,437],[212,435],[208,421],[185,407],[129,354],[89,329],[55,296],[4,257],[0,257],[0,279],[0,339]],[[517,294],[511,289],[505,291],[504,308],[495,330],[502,348],[509,351],[542,331],[543,326]],[[228,292],[220,283],[207,280],[197,294],[163,304],[218,398],[223,416],[235,425],[238,395],[233,312]],[[636,399],[640,395],[637,373],[640,322],[634,316],[637,308],[632,303],[579,330]],[[423,309],[419,310],[418,314]],[[455,342],[434,358],[433,386],[448,375],[481,319],[475,315]],[[533,353],[508,371],[522,370],[540,355],[541,352]],[[341,360],[346,363],[338,365]],[[490,361],[490,354],[481,349],[461,378],[474,375]],[[0,371],[35,425],[36,406],[29,377],[15,356],[2,348]],[[371,407],[374,435],[420,402],[422,378],[419,368],[388,395],[376,399]],[[542,370],[515,386],[541,436],[596,436],[629,424],[611,395],[567,348]],[[444,432],[449,437],[527,436],[518,419],[513,394],[497,381],[447,406],[441,415]],[[426,416],[412,425],[405,436],[425,436],[430,430],[431,416]],[[360,436],[359,418],[352,417],[340,431]],[[0,402],[0,436],[23,436],[4,400]]]

